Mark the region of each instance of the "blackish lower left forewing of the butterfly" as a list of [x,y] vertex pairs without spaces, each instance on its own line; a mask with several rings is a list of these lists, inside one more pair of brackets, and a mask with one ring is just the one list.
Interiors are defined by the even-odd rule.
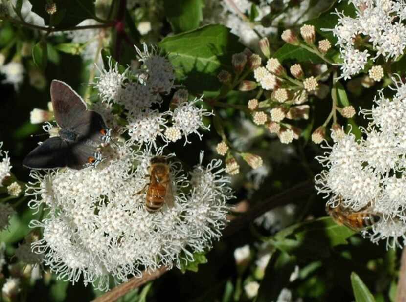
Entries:
[[31,169],[65,167],[70,148],[68,143],[60,137],[50,137],[24,158],[23,166]]

